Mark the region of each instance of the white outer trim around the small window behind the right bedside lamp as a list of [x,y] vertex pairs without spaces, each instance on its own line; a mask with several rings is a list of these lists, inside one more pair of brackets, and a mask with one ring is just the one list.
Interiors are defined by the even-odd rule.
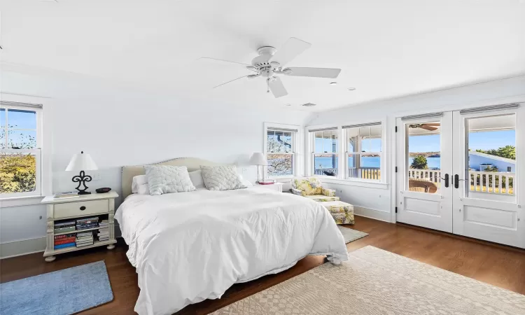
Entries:
[[302,132],[302,126],[300,125],[286,125],[286,124],[278,124],[278,123],[264,123],[264,133],[263,133],[263,141],[262,141],[262,153],[264,155],[267,155],[266,149],[268,145],[268,130],[271,130],[272,128],[283,128],[283,129],[296,129],[297,132],[292,135],[293,137],[293,174],[291,176],[268,176],[268,170],[267,167],[263,167],[265,178],[267,179],[275,179],[276,181],[286,181],[287,179],[293,179],[297,176],[302,176],[302,146],[301,144],[303,139],[303,132]]

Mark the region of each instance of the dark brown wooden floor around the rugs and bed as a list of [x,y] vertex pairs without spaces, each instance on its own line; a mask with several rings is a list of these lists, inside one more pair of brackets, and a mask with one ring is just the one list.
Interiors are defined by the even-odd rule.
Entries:
[[[372,245],[457,274],[463,274],[463,276],[491,283],[500,288],[525,294],[525,251],[363,217],[357,217],[356,225],[351,228],[370,235],[347,244],[349,251]],[[126,250],[127,246],[119,241],[117,247],[112,251],[102,247],[66,253],[58,255],[54,262],[44,262],[42,253],[0,260],[0,282],[104,260],[115,299],[108,304],[80,314],[134,314],[133,308],[139,295],[139,288],[137,274],[127,260]],[[325,259],[321,256],[307,256],[285,272],[264,276],[249,283],[236,284],[228,289],[220,300],[206,300],[193,304],[177,314],[207,314],[306,272],[323,262]]]

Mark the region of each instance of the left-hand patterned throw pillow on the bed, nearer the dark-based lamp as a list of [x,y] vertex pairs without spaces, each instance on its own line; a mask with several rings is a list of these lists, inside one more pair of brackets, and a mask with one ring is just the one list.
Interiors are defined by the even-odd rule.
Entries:
[[150,195],[182,193],[196,190],[186,167],[172,165],[146,165]]

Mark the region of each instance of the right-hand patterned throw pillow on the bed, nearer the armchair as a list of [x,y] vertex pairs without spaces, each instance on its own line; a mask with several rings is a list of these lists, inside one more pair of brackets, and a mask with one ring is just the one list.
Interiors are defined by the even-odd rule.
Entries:
[[204,185],[209,190],[230,190],[246,188],[239,179],[235,165],[221,165],[214,167],[200,166]]

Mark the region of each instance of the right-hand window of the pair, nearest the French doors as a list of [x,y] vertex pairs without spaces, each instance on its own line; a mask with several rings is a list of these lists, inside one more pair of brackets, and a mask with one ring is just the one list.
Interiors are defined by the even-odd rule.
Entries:
[[381,123],[342,126],[346,179],[381,181]]

